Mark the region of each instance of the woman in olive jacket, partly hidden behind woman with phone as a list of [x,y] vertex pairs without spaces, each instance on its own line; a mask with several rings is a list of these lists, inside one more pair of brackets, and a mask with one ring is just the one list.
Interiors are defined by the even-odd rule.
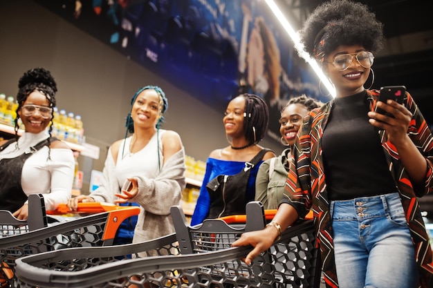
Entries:
[[282,200],[297,131],[304,116],[320,106],[322,106],[321,102],[302,95],[290,99],[282,109],[279,133],[282,144],[288,148],[284,149],[278,157],[264,161],[257,172],[255,200],[260,201],[264,209],[277,209]]

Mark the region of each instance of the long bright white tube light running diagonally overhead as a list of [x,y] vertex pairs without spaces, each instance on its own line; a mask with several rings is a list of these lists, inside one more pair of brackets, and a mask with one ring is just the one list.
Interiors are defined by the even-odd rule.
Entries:
[[295,30],[293,30],[290,23],[288,23],[286,17],[284,17],[281,10],[278,8],[277,4],[273,0],[265,0],[266,4],[268,4],[270,10],[274,13],[275,17],[277,17],[279,23],[282,24],[284,30],[286,30],[289,37],[291,37],[293,43],[295,44],[296,50],[299,52],[300,57],[302,57],[308,64],[310,64],[311,68],[313,68],[317,77],[319,77],[322,84],[326,87],[326,89],[331,93],[332,97],[335,98],[335,88],[329,81],[329,79],[324,75],[322,69],[320,69],[317,62],[308,55],[304,50],[304,46],[300,43],[300,37]]

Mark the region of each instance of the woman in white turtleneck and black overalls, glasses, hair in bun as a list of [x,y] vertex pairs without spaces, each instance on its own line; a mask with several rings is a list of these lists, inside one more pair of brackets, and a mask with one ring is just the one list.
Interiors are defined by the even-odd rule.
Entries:
[[[0,142],[0,210],[25,220],[30,194],[44,194],[47,210],[71,198],[75,165],[71,148],[51,137],[57,84],[50,72],[28,70],[18,88],[15,137]],[[21,136],[19,119],[25,127]]]

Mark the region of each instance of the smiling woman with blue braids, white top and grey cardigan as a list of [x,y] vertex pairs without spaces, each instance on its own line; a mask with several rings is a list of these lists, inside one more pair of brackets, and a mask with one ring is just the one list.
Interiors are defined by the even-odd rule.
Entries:
[[[117,244],[142,242],[174,233],[170,207],[178,205],[186,182],[185,149],[181,137],[174,131],[163,130],[168,102],[158,86],[145,86],[133,95],[127,116],[125,139],[109,148],[103,169],[103,180],[90,195],[71,198],[68,206],[76,209],[77,202],[109,202],[142,207],[136,224],[125,220]],[[133,133],[127,137],[129,133]],[[129,238],[129,239],[128,239]]]

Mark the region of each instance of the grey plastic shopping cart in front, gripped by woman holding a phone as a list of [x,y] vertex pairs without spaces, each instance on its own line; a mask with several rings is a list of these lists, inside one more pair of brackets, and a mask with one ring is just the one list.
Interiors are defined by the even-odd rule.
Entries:
[[245,231],[263,229],[266,218],[259,202],[248,203],[243,224],[216,219],[190,227],[181,207],[171,211],[176,233],[162,238],[19,258],[15,287],[319,287],[312,220],[286,229],[248,266],[241,258],[252,248],[231,243]]

